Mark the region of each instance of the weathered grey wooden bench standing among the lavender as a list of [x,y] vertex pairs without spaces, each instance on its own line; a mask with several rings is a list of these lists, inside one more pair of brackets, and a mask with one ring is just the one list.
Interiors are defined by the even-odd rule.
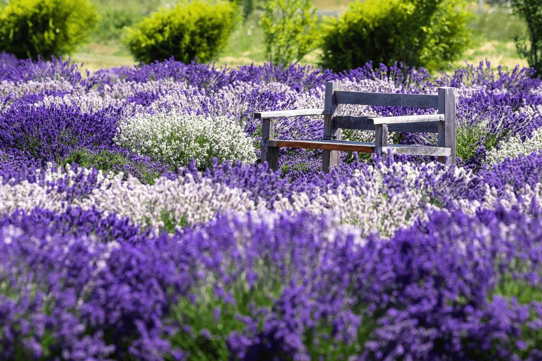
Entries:
[[[341,104],[393,106],[408,108],[435,108],[438,114],[367,117],[338,115]],[[324,115],[324,139],[274,139],[275,119],[292,116]],[[322,170],[339,166],[340,152],[381,154],[383,159],[393,154],[433,155],[438,161],[455,164],[455,88],[438,88],[438,95],[369,93],[341,90],[340,82],[327,82],[324,108],[260,111],[254,113],[262,119],[262,163],[279,168],[279,148],[322,149]],[[375,130],[375,142],[341,140],[341,129]],[[438,133],[438,146],[388,145],[388,132]]]

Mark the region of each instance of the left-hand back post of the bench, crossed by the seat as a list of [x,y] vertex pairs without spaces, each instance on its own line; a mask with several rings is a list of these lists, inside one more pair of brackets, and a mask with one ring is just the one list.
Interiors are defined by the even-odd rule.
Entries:
[[[324,108],[331,109],[329,115],[324,116],[324,140],[340,140],[340,128],[333,127],[333,116],[339,113],[340,104],[335,99],[335,90],[341,89],[340,82],[327,82],[326,93],[324,99]],[[322,172],[329,173],[331,167],[338,167],[340,164],[339,150],[323,150],[322,151]]]

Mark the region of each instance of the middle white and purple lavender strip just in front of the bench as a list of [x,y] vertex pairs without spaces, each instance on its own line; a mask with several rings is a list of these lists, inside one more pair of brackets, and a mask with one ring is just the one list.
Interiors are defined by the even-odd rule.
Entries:
[[333,215],[362,234],[391,237],[428,215],[505,207],[526,213],[542,199],[542,154],[518,156],[474,174],[440,163],[389,160],[353,166],[314,178],[281,178],[265,165],[195,163],[167,173],[153,185],[133,176],[80,167],[0,168],[0,214],[35,207],[64,212],[72,206],[118,214],[145,229],[183,231],[224,214]]

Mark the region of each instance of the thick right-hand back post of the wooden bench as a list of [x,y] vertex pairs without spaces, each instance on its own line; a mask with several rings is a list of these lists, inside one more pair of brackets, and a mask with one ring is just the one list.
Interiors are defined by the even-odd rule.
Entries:
[[447,159],[444,156],[439,156],[438,161],[446,165],[455,164],[455,88],[438,88],[438,113],[444,114],[444,121],[438,122],[438,146],[451,149]]

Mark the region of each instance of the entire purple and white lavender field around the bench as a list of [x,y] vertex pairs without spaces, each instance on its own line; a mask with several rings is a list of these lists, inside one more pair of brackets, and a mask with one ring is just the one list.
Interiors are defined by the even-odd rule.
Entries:
[[[2,55],[0,359],[542,359],[532,75],[173,60],[81,74]],[[321,152],[285,148],[278,172],[260,164],[254,111],[323,107],[326,81],[456,87],[458,165],[343,152],[323,174]],[[276,137],[319,139],[322,119],[279,120]]]

